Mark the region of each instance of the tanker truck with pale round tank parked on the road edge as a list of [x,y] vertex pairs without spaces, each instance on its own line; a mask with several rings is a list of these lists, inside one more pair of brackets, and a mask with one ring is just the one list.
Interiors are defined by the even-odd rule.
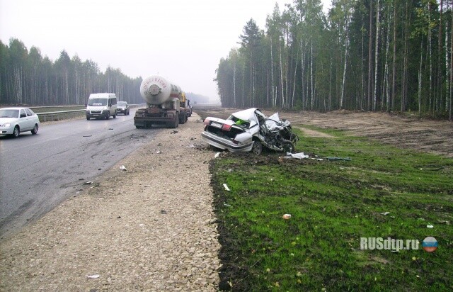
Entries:
[[187,120],[185,108],[180,107],[183,91],[164,77],[151,75],[143,79],[140,94],[147,102],[147,108],[139,108],[135,112],[134,125],[137,129],[150,128],[151,125],[178,128],[179,123]]

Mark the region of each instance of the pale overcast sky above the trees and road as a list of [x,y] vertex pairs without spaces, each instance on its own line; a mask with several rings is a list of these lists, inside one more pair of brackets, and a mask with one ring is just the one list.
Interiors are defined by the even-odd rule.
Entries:
[[292,0],[0,0],[0,40],[17,38],[52,61],[66,50],[101,72],[160,74],[214,102],[219,60],[251,18],[264,30],[276,3],[282,11]]

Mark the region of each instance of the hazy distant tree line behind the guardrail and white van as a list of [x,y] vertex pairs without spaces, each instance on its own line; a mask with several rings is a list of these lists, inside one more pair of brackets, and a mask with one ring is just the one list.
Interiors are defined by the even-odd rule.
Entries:
[[120,69],[101,72],[96,62],[69,57],[65,50],[52,62],[38,47],[16,38],[0,40],[0,103],[28,105],[83,105],[97,92],[115,93],[120,101],[143,103],[142,77],[130,78]]

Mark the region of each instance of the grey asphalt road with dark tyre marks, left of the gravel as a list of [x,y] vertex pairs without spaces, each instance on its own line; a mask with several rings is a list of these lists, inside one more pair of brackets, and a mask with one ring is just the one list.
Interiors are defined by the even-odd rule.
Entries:
[[[130,116],[41,124],[38,135],[0,137],[0,236],[37,220],[84,189],[159,128],[134,127]],[[115,186],[112,186],[113,188]]]

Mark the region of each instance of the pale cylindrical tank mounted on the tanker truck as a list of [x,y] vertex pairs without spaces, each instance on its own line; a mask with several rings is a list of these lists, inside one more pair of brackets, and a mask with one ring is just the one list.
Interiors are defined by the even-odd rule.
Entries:
[[181,89],[171,84],[167,79],[159,75],[151,75],[143,79],[140,85],[140,94],[144,101],[152,105],[161,105],[171,99],[180,99]]

